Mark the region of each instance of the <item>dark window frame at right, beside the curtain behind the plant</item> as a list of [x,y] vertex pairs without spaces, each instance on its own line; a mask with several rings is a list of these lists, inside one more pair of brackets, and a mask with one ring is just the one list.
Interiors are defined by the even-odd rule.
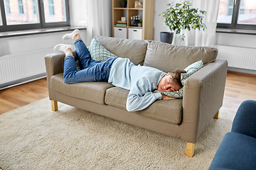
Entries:
[[241,24],[238,23],[238,15],[241,0],[234,0],[233,13],[231,23],[217,23],[217,28],[229,28],[229,29],[242,29],[242,30],[256,30],[256,24]]

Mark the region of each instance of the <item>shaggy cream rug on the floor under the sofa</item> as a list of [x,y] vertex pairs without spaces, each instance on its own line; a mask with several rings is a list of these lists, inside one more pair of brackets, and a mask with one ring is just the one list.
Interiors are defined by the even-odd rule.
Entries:
[[220,109],[185,156],[186,142],[45,98],[0,115],[0,169],[208,169],[235,112]]

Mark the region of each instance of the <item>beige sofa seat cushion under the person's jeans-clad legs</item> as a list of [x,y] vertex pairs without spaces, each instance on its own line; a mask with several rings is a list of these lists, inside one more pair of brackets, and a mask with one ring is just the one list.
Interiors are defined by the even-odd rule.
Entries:
[[105,104],[105,92],[113,87],[105,81],[100,82],[83,82],[78,84],[65,84],[63,81],[63,73],[55,74],[50,78],[50,86],[55,91],[62,94],[81,98],[87,101],[93,101],[99,104]]

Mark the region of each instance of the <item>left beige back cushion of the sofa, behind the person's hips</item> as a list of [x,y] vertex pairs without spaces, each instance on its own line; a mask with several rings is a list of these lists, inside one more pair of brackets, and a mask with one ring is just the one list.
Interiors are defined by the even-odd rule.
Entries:
[[118,57],[129,58],[135,65],[143,64],[147,42],[144,40],[128,40],[110,37],[95,37],[101,45]]

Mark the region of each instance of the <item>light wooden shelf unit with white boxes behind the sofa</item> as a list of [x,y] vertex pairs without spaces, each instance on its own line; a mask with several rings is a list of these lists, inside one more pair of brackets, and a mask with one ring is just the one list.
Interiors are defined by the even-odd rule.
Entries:
[[[136,0],[127,0],[127,8],[121,8],[119,0],[112,0],[112,35],[114,37],[114,27],[127,28],[127,38],[129,36],[128,28],[141,28],[142,40],[154,39],[154,0],[142,1],[143,8],[134,8]],[[130,26],[131,16],[140,16],[142,18],[142,27]],[[121,21],[121,17],[125,17],[127,26],[116,26],[117,21]]]

